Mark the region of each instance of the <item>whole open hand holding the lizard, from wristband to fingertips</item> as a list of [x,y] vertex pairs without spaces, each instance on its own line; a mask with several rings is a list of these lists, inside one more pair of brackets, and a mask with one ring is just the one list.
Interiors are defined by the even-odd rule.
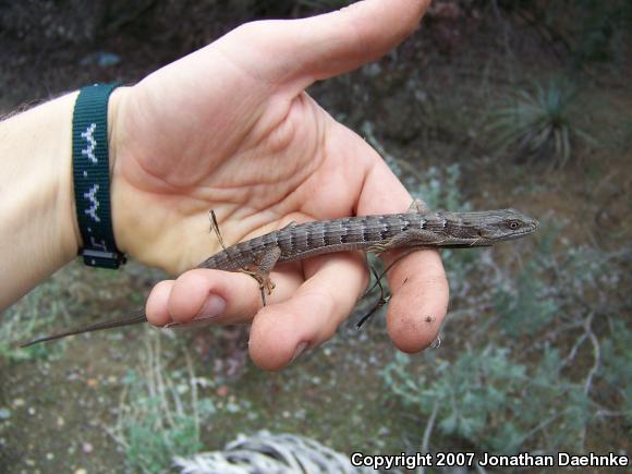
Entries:
[[[119,247],[179,274],[219,250],[209,209],[227,245],[292,220],[404,211],[412,198],[378,154],[304,89],[396,47],[427,3],[367,0],[305,20],[250,23],[118,89],[110,147]],[[155,325],[252,320],[253,360],[279,368],[335,333],[367,271],[361,255],[337,254],[282,266],[271,279],[277,287],[262,308],[246,275],[186,271],[156,285],[147,317]],[[401,350],[420,351],[447,309],[438,253],[405,257],[389,283],[389,333]]]

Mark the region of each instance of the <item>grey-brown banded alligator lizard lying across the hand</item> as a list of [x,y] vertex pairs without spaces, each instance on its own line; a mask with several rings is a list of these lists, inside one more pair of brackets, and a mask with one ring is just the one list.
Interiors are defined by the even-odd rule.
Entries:
[[[514,209],[474,212],[428,211],[423,203],[415,200],[404,214],[292,222],[282,229],[223,248],[196,268],[245,271],[257,279],[264,297],[264,289],[269,293],[274,288],[268,278],[269,272],[277,264],[283,262],[349,251],[380,254],[393,248],[489,246],[528,235],[537,227],[537,220]],[[221,241],[217,223],[215,229]],[[139,309],[126,318],[38,338],[22,347],[146,321],[145,312]]]

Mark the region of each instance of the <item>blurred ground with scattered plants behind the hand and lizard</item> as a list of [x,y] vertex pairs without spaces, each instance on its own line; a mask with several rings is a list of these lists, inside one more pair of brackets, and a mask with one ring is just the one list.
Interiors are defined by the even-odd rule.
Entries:
[[[0,113],[348,3],[0,1]],[[0,314],[0,471],[167,471],[260,429],[347,453],[630,454],[631,22],[627,0],[436,0],[396,51],[309,88],[432,207],[542,220],[535,238],[443,252],[439,348],[399,353],[381,314],[357,330],[368,301],[275,374],[250,362],[247,327],[14,349],[123,316],[163,278],[72,264]]]

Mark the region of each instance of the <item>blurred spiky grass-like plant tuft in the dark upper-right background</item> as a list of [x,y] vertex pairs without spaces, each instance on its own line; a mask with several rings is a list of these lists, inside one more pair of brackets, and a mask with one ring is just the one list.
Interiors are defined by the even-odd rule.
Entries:
[[519,156],[550,158],[567,165],[574,143],[594,138],[576,124],[578,89],[563,81],[539,82],[518,89],[491,110],[485,131],[494,147],[514,148]]

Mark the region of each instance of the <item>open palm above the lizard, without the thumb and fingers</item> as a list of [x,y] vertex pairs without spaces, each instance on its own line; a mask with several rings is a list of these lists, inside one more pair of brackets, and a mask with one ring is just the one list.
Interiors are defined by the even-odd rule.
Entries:
[[[217,44],[181,60],[187,61],[194,66],[174,64],[149,76],[121,106],[116,172],[125,200],[143,203],[142,215],[127,219],[143,221],[135,231],[146,234],[125,240],[127,252],[181,272],[217,250],[207,232],[209,209],[229,244],[285,221],[354,210],[367,158],[377,159],[357,135],[295,84],[262,77],[259,64],[228,63]],[[222,87],[205,81],[194,92],[183,88],[186,78],[171,77],[175,66],[192,78],[223,77]],[[162,100],[154,96],[158,87]],[[175,241],[171,252],[158,252]]]

